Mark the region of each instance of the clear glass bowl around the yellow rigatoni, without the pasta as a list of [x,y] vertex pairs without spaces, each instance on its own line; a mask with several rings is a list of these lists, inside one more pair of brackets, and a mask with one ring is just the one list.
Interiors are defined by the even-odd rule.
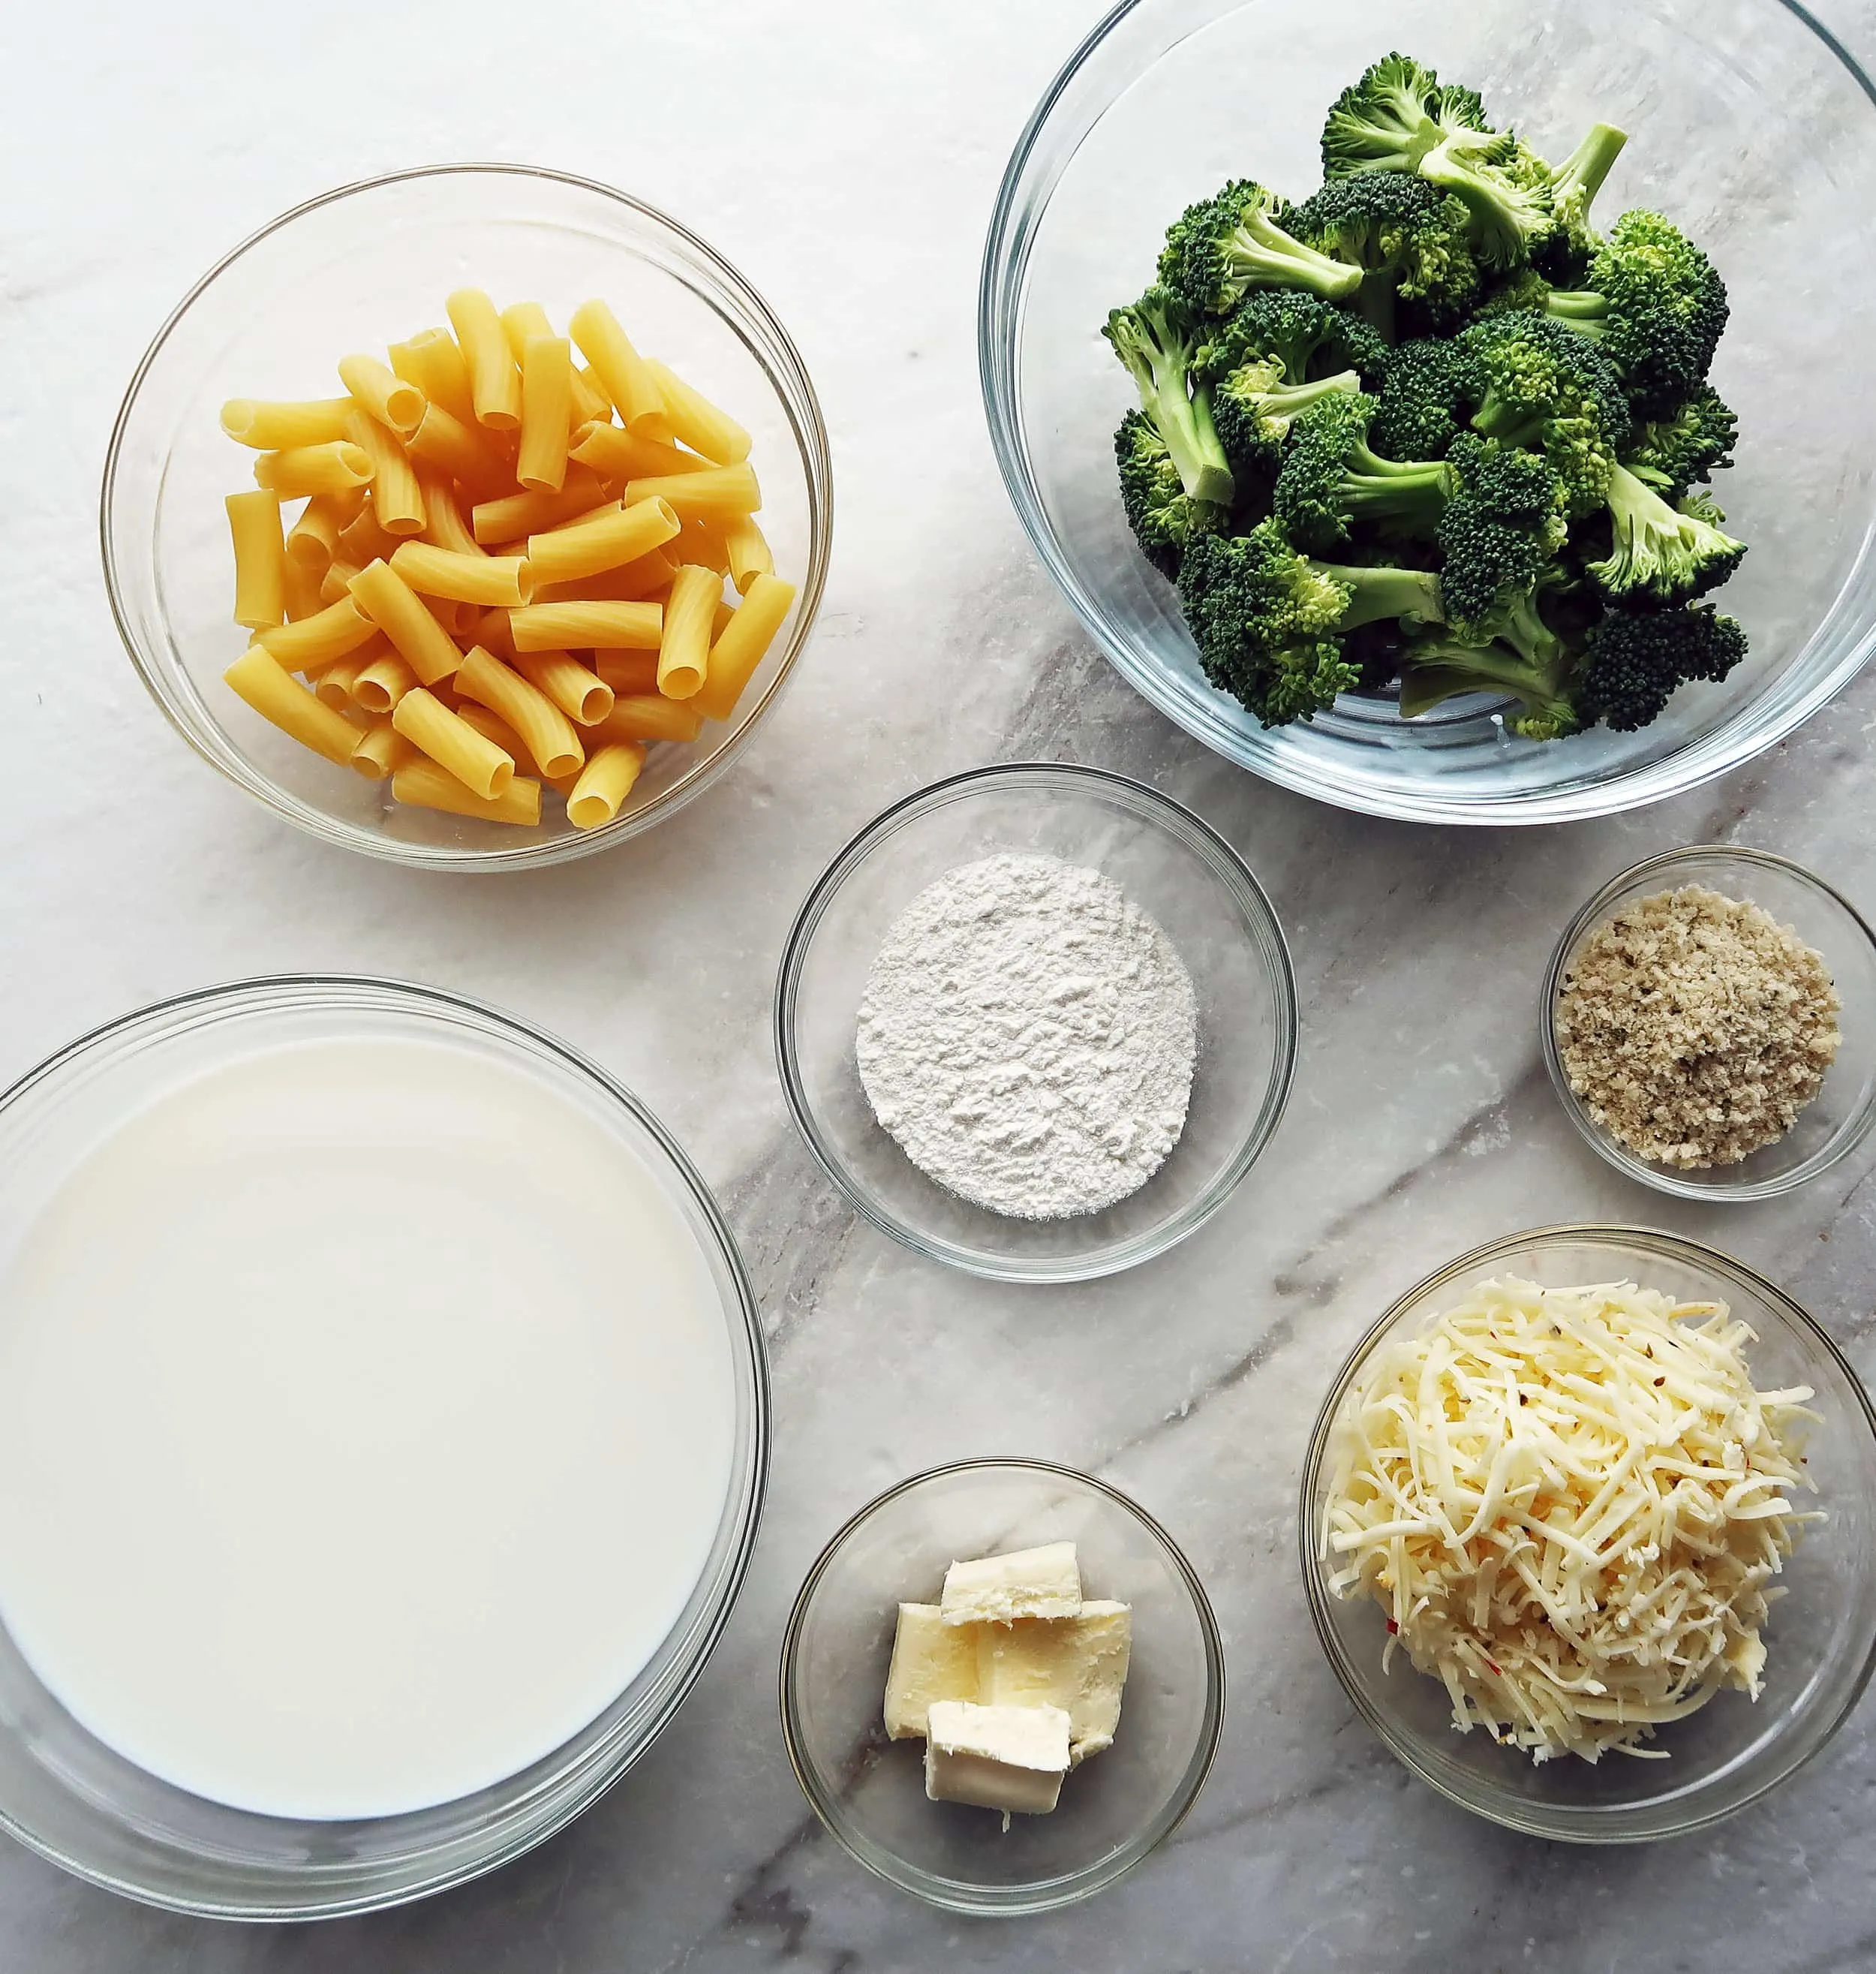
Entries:
[[[229,397],[331,397],[333,365],[444,322],[464,282],[566,322],[612,302],[633,340],[673,361],[750,428],[761,525],[799,598],[734,719],[692,746],[657,746],[625,807],[574,829],[548,792],[537,829],[389,799],[268,726],[223,683],[245,632],[229,622],[225,494],[251,454],[219,424]],[[775,703],[821,608],[832,539],[821,405],[761,296],[675,219],[608,186],[507,164],[440,166],[341,186],[294,207],[189,290],[158,332],[105,462],[105,584],[144,685],[176,730],[276,815],[393,863],[513,871],[623,843],[702,794]]]

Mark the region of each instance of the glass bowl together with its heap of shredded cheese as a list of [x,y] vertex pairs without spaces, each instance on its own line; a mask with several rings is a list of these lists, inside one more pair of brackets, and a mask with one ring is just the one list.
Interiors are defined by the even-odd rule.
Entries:
[[1310,1611],[1422,1781],[1586,1844],[1730,1816],[1876,1666],[1876,1413],[1797,1303],[1643,1228],[1491,1242],[1361,1340],[1310,1441]]

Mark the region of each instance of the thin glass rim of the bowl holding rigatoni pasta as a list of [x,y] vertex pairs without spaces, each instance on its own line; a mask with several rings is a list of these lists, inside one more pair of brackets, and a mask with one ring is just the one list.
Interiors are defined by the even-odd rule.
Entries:
[[[262,776],[247,758],[247,750],[229,742],[229,754],[239,760],[241,772],[223,760],[215,750],[203,744],[201,736],[191,728],[189,721],[183,719],[180,707],[172,701],[172,691],[162,677],[162,667],[148,661],[138,645],[138,640],[130,628],[130,614],[120,594],[118,582],[118,543],[116,531],[112,527],[110,505],[112,494],[116,490],[118,466],[128,438],[130,418],[136,411],[138,397],[144,387],[144,379],[150,369],[164,353],[170,338],[181,328],[189,310],[195,302],[251,249],[258,247],[262,241],[270,239],[274,233],[284,231],[294,225],[294,221],[304,219],[308,213],[320,211],[322,207],[335,205],[341,199],[357,197],[361,193],[383,191],[391,186],[408,184],[414,180],[442,180],[442,178],[517,178],[517,180],[544,180],[556,186],[564,186],[572,191],[588,193],[600,199],[610,199],[615,205],[627,207],[639,219],[649,221],[653,227],[661,227],[669,233],[677,245],[698,263],[702,263],[712,278],[726,288],[736,304],[748,312],[748,316],[761,328],[763,336],[769,338],[773,345],[775,363],[771,365],[767,355],[758,351],[752,343],[746,328],[734,316],[726,314],[718,302],[708,294],[698,294],[698,300],[710,308],[710,312],[730,330],[732,336],[750,351],[756,365],[761,369],[763,379],[781,407],[783,418],[787,420],[789,432],[795,438],[795,446],[801,456],[801,472],[807,490],[807,515],[809,515],[809,555],[807,567],[801,572],[799,594],[793,608],[793,630],[785,645],[781,647],[781,661],[775,665],[773,675],[763,685],[761,693],[752,703],[748,717],[732,726],[716,748],[704,760],[692,762],[667,790],[645,803],[643,809],[635,809],[627,815],[617,815],[610,823],[598,829],[570,831],[568,835],[552,843],[515,843],[515,845],[491,845],[485,849],[456,849],[450,845],[436,843],[404,843],[395,837],[387,837],[379,831],[363,829],[355,823],[341,823],[331,817],[325,809],[316,807],[310,801],[290,794],[284,788],[276,788],[268,776]],[[659,270],[667,272],[667,270]],[[679,276],[669,276],[677,280]],[[688,284],[686,284],[688,286]],[[698,290],[690,290],[696,294]],[[779,379],[779,381],[777,381]],[[799,401],[799,417],[797,417]],[[683,809],[688,801],[694,801],[716,780],[736,762],[750,742],[750,736],[761,724],[769,709],[781,697],[783,687],[793,677],[795,665],[807,647],[809,638],[815,630],[815,620],[821,614],[821,604],[827,592],[827,574],[832,555],[832,527],[834,527],[834,484],[832,484],[832,446],[827,432],[827,417],[821,409],[821,399],[815,391],[815,383],[809,377],[807,363],[801,357],[801,349],[795,340],[783,328],[781,320],[763,300],[759,290],[748,280],[748,276],[726,261],[702,235],[692,233],[681,219],[673,219],[671,213],[653,205],[649,199],[639,199],[629,191],[621,191],[617,186],[608,186],[598,178],[584,178],[576,172],[560,172],[552,166],[541,164],[509,164],[501,160],[462,160],[454,164],[422,164],[410,166],[398,172],[379,172],[371,178],[355,178],[343,186],[333,186],[327,191],[320,191],[310,199],[302,199],[298,205],[276,213],[264,225],[256,227],[243,241],[221,255],[215,265],[191,282],[183,298],[170,310],[164,318],[162,328],[150,340],[136,369],[130,373],[130,383],[124,389],[124,397],[118,403],[116,418],[110,426],[110,442],[105,450],[105,472],[99,486],[99,553],[105,569],[105,594],[110,602],[110,616],[116,624],[118,642],[130,657],[136,675],[142,679],[144,689],[156,701],[158,711],[164,719],[189,742],[193,752],[205,760],[219,776],[233,782],[247,796],[253,796],[264,809],[292,823],[296,829],[318,837],[322,843],[337,845],[339,849],[357,851],[363,857],[377,857],[383,863],[404,865],[406,869],[420,871],[456,871],[456,873],[479,873],[479,871],[529,871],[541,869],[556,863],[572,863],[578,857],[592,857],[596,851],[612,849],[623,843],[627,837],[641,835],[655,823],[665,821]]]

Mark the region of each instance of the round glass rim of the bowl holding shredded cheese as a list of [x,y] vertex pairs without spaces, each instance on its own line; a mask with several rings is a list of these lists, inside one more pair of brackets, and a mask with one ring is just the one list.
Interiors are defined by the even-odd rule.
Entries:
[[[1462,1810],[1470,1810],[1474,1816],[1481,1816],[1487,1822],[1499,1824],[1505,1830],[1517,1830],[1523,1836],[1552,1838],[1562,1844],[1653,1844],[1661,1838],[1689,1836],[1695,1830],[1706,1830],[1712,1824],[1724,1822],[1728,1816],[1736,1816],[1740,1810],[1762,1800],[1789,1777],[1793,1777],[1805,1763],[1821,1755],[1837,1731],[1854,1711],[1864,1688],[1870,1684],[1872,1672],[1876,1672],[1876,1629],[1872,1629],[1870,1638],[1864,1642],[1862,1666],[1856,1672],[1850,1688],[1844,1692],[1842,1700],[1823,1721],[1821,1731],[1815,1741],[1799,1755],[1785,1757],[1783,1761],[1769,1761],[1768,1773],[1754,1783],[1754,1786],[1742,1794],[1736,1802],[1720,1804],[1710,1810],[1691,1810],[1681,1806],[1671,1822],[1665,1822],[1657,1830],[1608,1830],[1596,1828],[1596,1818],[1608,1816],[1608,1810],[1580,1810],[1568,1806],[1535,1806],[1529,1808],[1521,1802],[1513,1802],[1507,1794],[1497,1790],[1489,1783],[1479,1784],[1478,1796],[1468,1796],[1450,1788],[1446,1781],[1432,1773],[1418,1757],[1412,1737],[1403,1733],[1393,1719],[1393,1713],[1373,1704],[1367,1688],[1355,1678],[1347,1654],[1341,1648],[1341,1636],[1330,1619],[1332,1603],[1339,1605],[1339,1599],[1332,1599],[1328,1585],[1322,1581],[1322,1565],[1316,1556],[1316,1508],[1314,1496],[1322,1475],[1324,1455],[1328,1451],[1330,1433],[1334,1431],[1335,1417],[1341,1411],[1341,1402],[1359,1376],[1363,1364],[1367,1364],[1375,1346],[1387,1336],[1387,1332],[1401,1321],[1407,1309],[1420,1297],[1430,1295],[1448,1281],[1458,1279],[1489,1261],[1505,1259],[1519,1252],[1529,1252],[1537,1246],[1594,1246],[1627,1242],[1641,1248],[1651,1248],[1663,1257],[1691,1263],[1702,1267],[1722,1281],[1734,1281],[1754,1295],[1764,1297],[1779,1315],[1809,1342],[1817,1344],[1819,1350],[1837,1366],[1842,1374],[1844,1384],[1856,1398],[1856,1409],[1862,1417],[1864,1435],[1876,1441],[1876,1407],[1870,1404],[1870,1394],[1864,1390],[1862,1378],[1858,1378],[1856,1368],[1839,1348],[1831,1332],[1813,1317],[1799,1301],[1779,1289],[1773,1281],[1762,1275],[1748,1261],[1740,1261],[1736,1255],[1726,1253],[1720,1248],[1712,1248],[1706,1242],[1691,1240],[1685,1234],[1669,1234],[1665,1228],[1645,1228],[1625,1222],[1558,1222],[1554,1226],[1525,1228],[1519,1234],[1501,1234],[1497,1240],[1481,1242],[1478,1248],[1470,1248],[1466,1253],[1456,1255],[1442,1267],[1432,1269],[1422,1275],[1410,1289],[1397,1295],[1387,1309],[1361,1332],[1353,1350],[1347,1354],[1341,1370],[1330,1384],[1328,1396],[1322,1402],[1322,1409],[1316,1413],[1316,1425],[1310,1429],[1308,1451],[1302,1461],[1302,1479],[1298,1482],[1298,1508],[1296,1508],[1296,1552],[1298,1565],[1302,1569],[1304,1599],[1310,1605],[1310,1623],[1316,1627],[1316,1642],[1322,1646],[1324,1658],[1328,1658],[1341,1690],[1347,1694],[1355,1711],[1367,1721],[1377,1739],[1395,1755],[1395,1759],[1420,1783],[1436,1790],[1448,1802],[1458,1804]],[[1418,1678],[1418,1674],[1416,1674]],[[1769,1751],[1768,1751],[1769,1753]]]

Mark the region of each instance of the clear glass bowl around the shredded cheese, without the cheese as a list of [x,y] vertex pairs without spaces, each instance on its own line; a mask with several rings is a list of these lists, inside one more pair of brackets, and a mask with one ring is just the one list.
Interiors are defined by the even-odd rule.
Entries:
[[[1446,1688],[1405,1654],[1383,1674],[1385,1615],[1343,1601],[1318,1556],[1343,1402],[1375,1348],[1426,1329],[1493,1275],[1562,1289],[1639,1281],[1687,1301],[1716,1299],[1758,1332],[1748,1350],[1760,1388],[1809,1384],[1821,1425],[1807,1447],[1825,1522],[1803,1530],[1766,1627],[1758,1702],[1720,1694],[1653,1743],[1667,1761],[1606,1755],[1537,1765],[1483,1729],[1458,1733]],[[1876,1666],[1876,1413],[1837,1344],[1791,1297],[1742,1261],[1647,1228],[1560,1226],[1511,1234],[1460,1255],[1408,1289],[1361,1338],[1324,1400],[1302,1469],[1302,1579],[1316,1634],[1369,1727],[1442,1796],[1509,1830],[1576,1844],[1637,1844],[1732,1816],[1809,1761],[1844,1723]]]

